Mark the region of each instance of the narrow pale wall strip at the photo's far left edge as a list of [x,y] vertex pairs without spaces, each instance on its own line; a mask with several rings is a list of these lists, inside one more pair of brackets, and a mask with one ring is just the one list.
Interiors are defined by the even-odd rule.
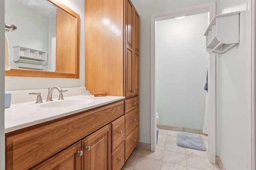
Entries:
[[[4,1],[0,1],[0,24],[4,25]],[[4,138],[4,29],[0,31],[0,170],[5,170]]]

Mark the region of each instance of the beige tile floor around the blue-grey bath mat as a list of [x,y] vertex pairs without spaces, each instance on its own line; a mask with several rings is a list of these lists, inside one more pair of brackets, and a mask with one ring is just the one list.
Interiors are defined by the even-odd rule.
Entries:
[[[211,164],[206,151],[178,147],[178,131],[159,129],[156,152],[135,149],[122,170],[220,170]],[[208,137],[201,135],[208,148]]]

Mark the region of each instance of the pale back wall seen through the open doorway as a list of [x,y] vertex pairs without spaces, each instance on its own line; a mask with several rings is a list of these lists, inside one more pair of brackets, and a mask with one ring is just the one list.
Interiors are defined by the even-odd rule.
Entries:
[[156,22],[158,125],[203,129],[207,27],[207,13]]

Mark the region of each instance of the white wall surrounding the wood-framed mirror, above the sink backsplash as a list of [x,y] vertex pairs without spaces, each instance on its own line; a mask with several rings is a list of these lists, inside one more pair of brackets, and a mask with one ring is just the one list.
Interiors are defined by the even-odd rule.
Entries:
[[5,77],[5,90],[28,90],[43,89],[53,86],[80,87],[85,86],[85,21],[84,21],[84,1],[83,0],[62,0],[70,9],[80,15],[80,78],[28,78],[28,77]]

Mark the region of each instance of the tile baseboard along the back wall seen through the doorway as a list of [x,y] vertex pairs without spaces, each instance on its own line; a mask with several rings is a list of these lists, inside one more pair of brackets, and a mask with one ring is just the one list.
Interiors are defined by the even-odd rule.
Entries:
[[176,127],[176,126],[168,126],[168,125],[156,125],[156,127],[158,127],[159,129],[165,129],[165,130],[170,130],[170,131],[179,131],[179,132],[207,135],[207,134],[203,133],[202,129],[192,129],[192,128]]

